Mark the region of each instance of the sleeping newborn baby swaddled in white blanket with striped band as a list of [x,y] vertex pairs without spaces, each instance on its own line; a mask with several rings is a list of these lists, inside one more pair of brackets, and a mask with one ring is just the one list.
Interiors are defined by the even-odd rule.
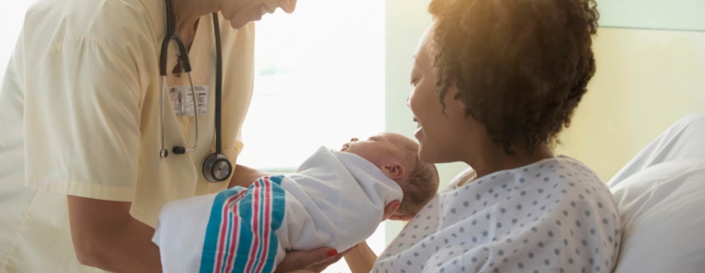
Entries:
[[409,220],[438,191],[418,149],[400,134],[353,138],[295,173],[168,203],[153,238],[164,272],[274,272],[286,251],[342,252],[383,220]]

